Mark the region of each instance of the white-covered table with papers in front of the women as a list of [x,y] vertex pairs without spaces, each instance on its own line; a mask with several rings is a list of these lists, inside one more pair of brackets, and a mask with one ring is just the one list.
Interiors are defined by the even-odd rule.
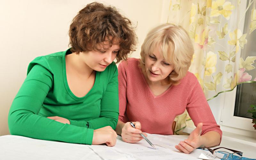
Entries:
[[[150,148],[145,140],[131,144],[117,137],[115,147],[106,145],[83,145],[65,142],[37,140],[28,137],[5,135],[0,136],[0,159],[11,160],[98,160],[98,159],[197,159],[201,149],[191,154],[180,153],[174,148],[186,135],[157,135],[148,134],[148,139],[160,150]],[[167,149],[164,149],[164,148]],[[244,152],[244,157],[256,158],[256,147],[247,144],[222,139],[220,147],[231,148]],[[213,148],[217,148],[213,147]]]

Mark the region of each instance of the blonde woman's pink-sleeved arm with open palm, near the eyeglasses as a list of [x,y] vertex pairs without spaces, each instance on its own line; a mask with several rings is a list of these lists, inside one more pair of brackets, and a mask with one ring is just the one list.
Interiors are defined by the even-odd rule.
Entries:
[[196,129],[191,132],[188,140],[181,141],[177,149],[190,153],[198,147],[212,147],[220,144],[222,131],[212,115],[211,108],[204,96],[204,92],[193,75],[190,78],[191,90],[188,95],[187,111]]

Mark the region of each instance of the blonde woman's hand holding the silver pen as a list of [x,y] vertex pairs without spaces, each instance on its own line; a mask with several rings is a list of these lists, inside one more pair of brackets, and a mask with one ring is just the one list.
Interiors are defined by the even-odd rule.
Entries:
[[[128,143],[136,143],[143,139],[143,137],[140,135],[141,132],[141,124],[140,122],[133,122],[135,124],[135,128],[133,128],[130,124],[130,122],[127,122],[124,124],[124,127],[122,128],[122,139],[124,142]],[[146,133],[143,133],[146,137],[148,136]]]

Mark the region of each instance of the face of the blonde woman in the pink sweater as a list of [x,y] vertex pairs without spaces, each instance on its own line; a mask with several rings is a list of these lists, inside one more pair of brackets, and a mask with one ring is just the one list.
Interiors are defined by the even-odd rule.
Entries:
[[145,70],[148,80],[151,82],[161,82],[173,71],[174,66],[164,60],[158,48],[152,54],[145,57]]

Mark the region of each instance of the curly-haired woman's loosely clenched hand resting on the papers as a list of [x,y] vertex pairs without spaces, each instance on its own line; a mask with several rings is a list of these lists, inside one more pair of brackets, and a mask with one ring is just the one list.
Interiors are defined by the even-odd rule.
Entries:
[[107,146],[116,145],[116,132],[110,126],[102,127],[93,131],[92,144],[103,144]]

